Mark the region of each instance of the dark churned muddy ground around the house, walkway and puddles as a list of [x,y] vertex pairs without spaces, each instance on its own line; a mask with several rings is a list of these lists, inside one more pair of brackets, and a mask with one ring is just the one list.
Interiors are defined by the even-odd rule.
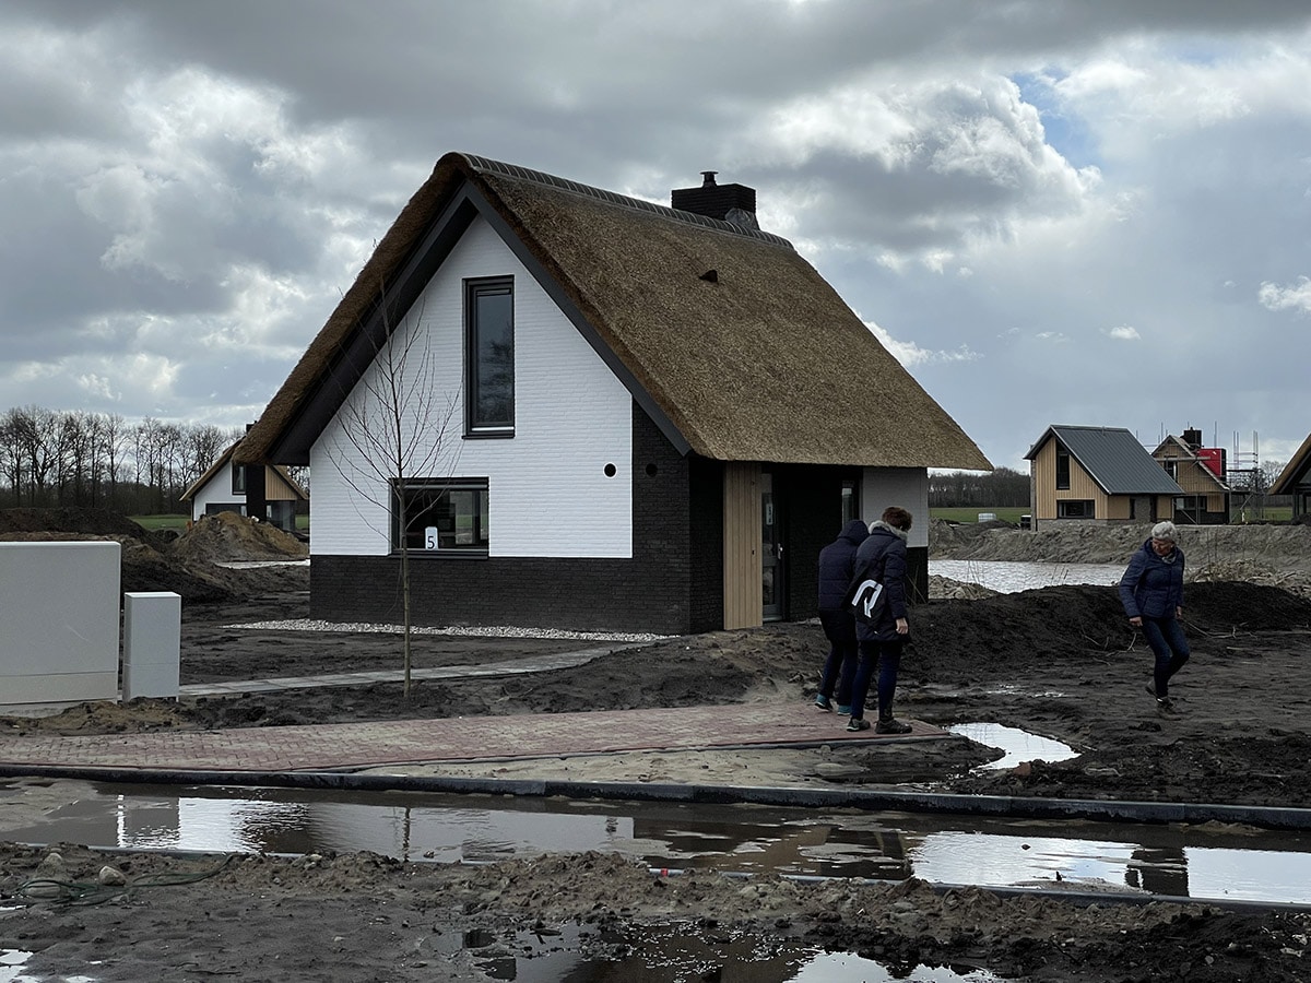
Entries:
[[[1214,550],[1214,564],[1248,564],[1244,579],[1188,587],[1185,621],[1194,655],[1172,688],[1176,716],[1160,716],[1143,692],[1151,657],[1125,621],[1113,588],[1062,586],[915,608],[898,713],[944,727],[981,721],[1021,727],[1072,746],[1080,754],[1068,761],[971,772],[998,752],[953,738],[420,768],[490,777],[586,775],[815,788],[912,782],[981,794],[1311,807],[1311,600],[1301,590],[1311,528],[1269,528],[1253,531],[1251,549],[1242,556]],[[1002,541],[1015,531],[995,532]],[[935,547],[935,554],[999,558],[981,556],[992,533],[943,530],[939,540],[960,536],[964,545]],[[218,539],[231,541],[233,533]],[[151,548],[169,566],[184,553],[180,544]],[[1097,548],[1106,549],[1104,543]],[[1097,562],[1087,558],[1088,549],[1087,543],[1067,540],[1047,558]],[[184,604],[184,683],[399,667],[392,636],[235,628],[304,617],[307,569],[206,568],[202,552],[187,561],[187,575],[197,578],[198,592],[212,591],[219,599]],[[125,558],[125,581],[126,568]],[[578,646],[558,638],[425,636],[416,641],[414,666],[482,663]],[[813,699],[825,650],[817,624],[780,624],[665,640],[549,674],[417,682],[409,699],[399,684],[376,684],[126,708],[93,704],[54,716],[14,716],[0,726],[13,735],[85,734],[705,703],[730,713],[749,700]],[[34,779],[10,780],[4,793],[0,830],[7,828],[7,805],[71,794]],[[60,852],[63,876],[54,879],[77,882],[94,881],[106,862],[140,885],[156,876],[186,881],[220,860],[105,857],[73,845]],[[0,891],[10,899],[0,907],[33,902],[20,887],[45,857],[46,851],[16,845],[0,852]],[[486,868],[405,865],[371,855],[236,857],[202,879],[143,887],[105,903],[46,899],[16,906],[0,912],[0,949],[38,953],[30,969],[106,980],[486,979],[496,966],[505,973],[503,959],[523,945],[518,931],[536,927],[538,940],[519,955],[545,955],[555,946],[603,958],[667,923],[686,925],[680,931],[687,935],[747,932],[773,945],[800,940],[860,953],[905,973],[923,963],[981,966],[1008,979],[1058,983],[1311,979],[1311,917],[1297,911],[1089,907],[977,889],[935,894],[916,882],[764,877],[743,883],[705,872],[658,878],[594,855]],[[562,927],[581,928],[577,935],[553,935]],[[489,940],[490,946],[481,945]],[[93,961],[100,962],[90,966]]]

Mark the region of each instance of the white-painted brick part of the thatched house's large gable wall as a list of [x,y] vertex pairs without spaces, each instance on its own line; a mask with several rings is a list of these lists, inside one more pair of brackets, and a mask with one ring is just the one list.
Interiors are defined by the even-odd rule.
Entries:
[[[465,440],[463,284],[505,275],[514,277],[515,433]],[[434,477],[489,480],[492,556],[632,556],[632,397],[482,219],[399,330],[429,333],[438,415],[451,406],[443,444],[450,453]],[[363,391],[357,385],[350,398]],[[338,413],[311,452],[311,552],[384,556],[385,484],[359,464],[342,421]],[[614,477],[606,476],[607,464]]]

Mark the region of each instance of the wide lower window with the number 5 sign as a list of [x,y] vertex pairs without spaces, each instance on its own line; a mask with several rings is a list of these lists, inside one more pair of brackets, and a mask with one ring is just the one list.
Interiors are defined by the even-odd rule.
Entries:
[[409,478],[400,489],[405,495],[405,530],[400,509],[392,499],[392,549],[486,556],[488,480],[486,478]]

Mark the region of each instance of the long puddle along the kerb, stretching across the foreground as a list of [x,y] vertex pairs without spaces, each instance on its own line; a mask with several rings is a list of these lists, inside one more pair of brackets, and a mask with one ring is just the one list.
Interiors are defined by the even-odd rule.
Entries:
[[783,806],[100,785],[5,839],[489,862],[598,851],[653,870],[1311,904],[1311,834]]

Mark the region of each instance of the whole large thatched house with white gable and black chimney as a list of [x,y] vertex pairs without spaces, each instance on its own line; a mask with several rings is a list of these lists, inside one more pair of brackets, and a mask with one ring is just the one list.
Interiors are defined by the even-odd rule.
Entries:
[[[440,431],[447,463],[399,486],[349,439],[384,402],[388,339],[423,355],[413,402],[450,410],[404,440],[422,457]],[[753,189],[707,172],[665,207],[464,153],[401,211],[239,460],[312,468],[315,617],[399,620],[404,537],[420,624],[662,633],[813,616],[821,547],[889,505],[918,519],[923,590],[927,469],[991,469],[756,227]]]

